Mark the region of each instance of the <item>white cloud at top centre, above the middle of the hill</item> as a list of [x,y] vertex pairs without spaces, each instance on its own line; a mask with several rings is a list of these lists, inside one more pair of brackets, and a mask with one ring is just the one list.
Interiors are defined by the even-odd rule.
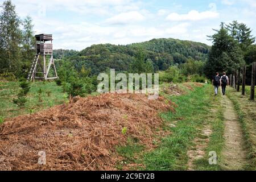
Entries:
[[141,22],[145,17],[138,11],[130,11],[127,13],[120,13],[111,18],[106,19],[108,24],[129,24],[134,22]]

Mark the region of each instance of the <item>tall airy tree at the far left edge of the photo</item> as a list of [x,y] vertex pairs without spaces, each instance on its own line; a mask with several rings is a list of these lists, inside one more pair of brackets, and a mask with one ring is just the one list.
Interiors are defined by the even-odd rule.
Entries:
[[3,2],[0,13],[0,63],[1,72],[20,73],[20,48],[22,32],[15,5],[10,0]]

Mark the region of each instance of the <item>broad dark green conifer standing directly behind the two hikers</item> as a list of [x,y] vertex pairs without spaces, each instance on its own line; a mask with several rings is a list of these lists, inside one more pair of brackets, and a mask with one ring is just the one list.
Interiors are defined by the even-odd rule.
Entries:
[[233,72],[245,64],[243,54],[237,41],[228,34],[228,30],[221,23],[220,30],[209,36],[213,46],[209,52],[209,59],[205,64],[205,75],[212,77],[215,72]]

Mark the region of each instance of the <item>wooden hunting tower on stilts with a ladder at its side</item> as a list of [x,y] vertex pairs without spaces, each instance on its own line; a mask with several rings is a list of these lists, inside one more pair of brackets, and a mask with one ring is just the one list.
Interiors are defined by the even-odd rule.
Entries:
[[[36,39],[36,55],[32,63],[30,72],[28,73],[27,81],[39,80],[51,80],[58,78],[56,67],[52,56],[52,34],[39,34],[35,35]],[[48,43],[51,41],[51,43]],[[49,62],[47,65],[47,57]],[[54,73],[53,77],[48,77],[49,69],[53,65]]]

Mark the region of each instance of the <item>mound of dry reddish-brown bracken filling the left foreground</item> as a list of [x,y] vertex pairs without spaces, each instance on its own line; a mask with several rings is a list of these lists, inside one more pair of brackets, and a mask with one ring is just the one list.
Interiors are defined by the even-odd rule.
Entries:
[[[163,124],[159,111],[174,107],[163,97],[101,94],[6,119],[0,125],[0,170],[115,169],[115,146],[126,144],[129,135],[150,147]],[[38,164],[39,151],[46,152],[45,165]]]

